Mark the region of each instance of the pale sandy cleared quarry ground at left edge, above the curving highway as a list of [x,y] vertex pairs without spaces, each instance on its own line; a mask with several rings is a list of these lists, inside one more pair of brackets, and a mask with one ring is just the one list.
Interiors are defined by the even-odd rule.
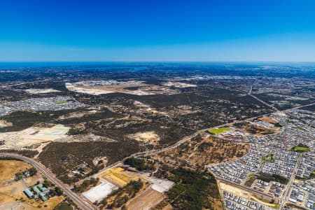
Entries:
[[64,125],[55,125],[53,127],[29,127],[20,132],[0,133],[0,141],[4,144],[0,149],[22,149],[27,146],[38,144],[38,146],[47,141],[55,141],[66,137],[70,127]]

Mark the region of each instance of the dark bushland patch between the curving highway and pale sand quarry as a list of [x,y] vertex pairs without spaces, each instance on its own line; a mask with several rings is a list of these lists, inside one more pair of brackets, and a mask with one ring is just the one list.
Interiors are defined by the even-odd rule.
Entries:
[[[137,141],[51,142],[43,148],[38,159],[64,183],[73,183],[99,171],[99,166],[93,163],[95,158],[106,157],[107,164],[111,165],[137,152],[139,152]],[[69,174],[73,170],[79,171],[78,165],[87,166],[85,175]]]

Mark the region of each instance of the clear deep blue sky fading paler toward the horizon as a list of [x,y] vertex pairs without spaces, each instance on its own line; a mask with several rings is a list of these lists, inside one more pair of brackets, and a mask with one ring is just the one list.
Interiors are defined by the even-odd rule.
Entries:
[[315,61],[315,1],[3,0],[0,61]]

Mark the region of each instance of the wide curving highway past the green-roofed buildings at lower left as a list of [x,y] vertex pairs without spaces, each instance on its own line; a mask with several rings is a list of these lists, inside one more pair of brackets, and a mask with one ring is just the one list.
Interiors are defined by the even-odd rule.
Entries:
[[79,209],[82,210],[94,210],[94,207],[92,207],[90,204],[87,202],[83,202],[76,193],[73,193],[69,187],[65,186],[64,183],[59,181],[58,179],[55,178],[55,175],[52,174],[46,167],[41,165],[41,163],[36,162],[32,160],[31,158],[27,158],[21,155],[13,154],[13,153],[0,153],[1,157],[10,157],[10,158],[17,158],[19,160],[23,160],[25,162],[28,162],[31,164],[33,167],[35,167],[39,172],[41,172],[44,176],[46,176],[52,183],[55,183],[56,186],[61,188],[64,191],[64,194],[67,195],[77,206]]

